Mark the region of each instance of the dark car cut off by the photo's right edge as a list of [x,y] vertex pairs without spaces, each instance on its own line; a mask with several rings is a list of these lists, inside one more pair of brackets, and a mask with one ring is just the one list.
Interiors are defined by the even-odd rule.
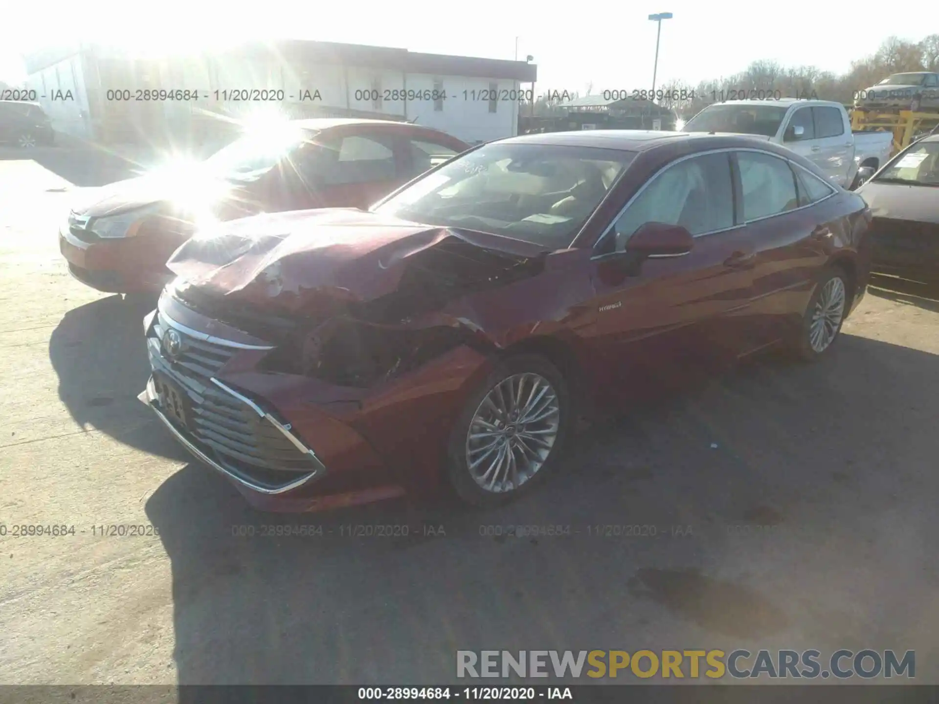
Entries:
[[873,215],[873,269],[939,281],[939,134],[907,146],[856,192]]

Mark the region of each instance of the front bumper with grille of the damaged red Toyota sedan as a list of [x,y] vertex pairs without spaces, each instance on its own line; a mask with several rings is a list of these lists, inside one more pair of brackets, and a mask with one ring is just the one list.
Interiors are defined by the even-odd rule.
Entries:
[[[459,348],[375,389],[263,371],[273,347],[198,313],[169,289],[145,321],[151,376],[139,398],[198,460],[255,508],[317,511],[436,492],[439,464],[467,384],[486,358]],[[189,351],[170,360],[175,329]],[[161,406],[169,380],[190,408]],[[169,411],[169,412],[168,412]]]

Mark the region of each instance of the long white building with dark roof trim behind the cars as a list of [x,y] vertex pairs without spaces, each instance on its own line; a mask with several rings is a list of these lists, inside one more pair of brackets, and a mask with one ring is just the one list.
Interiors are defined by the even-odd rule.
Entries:
[[[300,40],[158,59],[80,45],[27,56],[26,63],[26,87],[54,127],[100,141],[128,137],[122,128],[175,133],[191,126],[193,115],[276,105],[295,116],[416,121],[485,142],[517,133],[520,96],[537,71],[521,61]],[[142,99],[145,90],[191,91],[191,99]]]

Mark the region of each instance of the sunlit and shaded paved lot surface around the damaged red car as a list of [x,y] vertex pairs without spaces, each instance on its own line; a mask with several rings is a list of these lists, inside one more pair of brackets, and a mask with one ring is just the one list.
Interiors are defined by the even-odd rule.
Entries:
[[[137,401],[146,307],[59,257],[70,199],[126,165],[9,156],[0,683],[439,683],[455,650],[643,648],[916,650],[916,681],[939,682],[939,292],[878,280],[831,359],[759,360],[599,424],[499,511],[254,513]],[[324,534],[232,535],[298,521]],[[343,534],[389,524],[408,537]],[[480,534],[509,525],[572,534]],[[656,537],[590,534],[606,525]]]

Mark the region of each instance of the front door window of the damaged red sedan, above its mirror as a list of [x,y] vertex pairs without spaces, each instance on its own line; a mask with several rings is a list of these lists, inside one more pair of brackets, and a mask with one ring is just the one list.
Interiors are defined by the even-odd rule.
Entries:
[[646,222],[682,225],[692,235],[733,226],[731,162],[726,152],[680,161],[662,172],[626,208],[613,229],[622,252]]

